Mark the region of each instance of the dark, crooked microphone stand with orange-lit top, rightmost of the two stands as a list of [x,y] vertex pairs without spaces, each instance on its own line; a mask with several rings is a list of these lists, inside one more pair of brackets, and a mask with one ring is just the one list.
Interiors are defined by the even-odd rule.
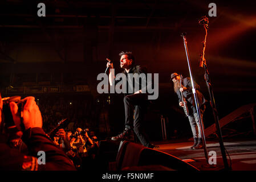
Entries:
[[225,152],[225,147],[224,147],[224,143],[222,140],[222,134],[221,134],[221,127],[220,127],[220,122],[218,119],[218,112],[217,112],[217,108],[216,108],[216,104],[215,104],[215,100],[214,100],[214,96],[213,96],[213,88],[212,88],[212,84],[210,82],[210,74],[206,65],[206,60],[205,60],[205,43],[206,43],[206,36],[208,33],[208,24],[209,24],[209,20],[206,16],[203,17],[204,19],[201,19],[199,21],[200,24],[202,24],[205,28],[205,40],[204,42],[202,42],[202,53],[201,53],[201,58],[200,58],[200,68],[204,67],[205,69],[205,81],[206,81],[206,85],[207,85],[207,89],[210,95],[210,106],[212,107],[213,110],[213,115],[214,115],[214,121],[215,121],[215,126],[216,126],[216,134],[218,135],[219,138],[219,143],[220,143],[220,148],[221,148],[221,154],[222,154],[222,159],[223,159],[223,163],[224,163],[224,167],[225,169],[229,170],[231,169],[231,167],[229,167],[229,164],[227,163],[227,158],[226,158],[226,152]]

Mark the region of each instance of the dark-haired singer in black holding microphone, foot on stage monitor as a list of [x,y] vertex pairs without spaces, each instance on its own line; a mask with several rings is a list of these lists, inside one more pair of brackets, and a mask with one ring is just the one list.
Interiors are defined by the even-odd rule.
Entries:
[[[119,56],[120,67],[124,69],[123,73],[126,77],[128,77],[128,73],[137,73],[139,75],[145,73],[147,75],[145,68],[140,67],[140,65],[135,65],[135,57],[132,55],[132,52],[122,51],[119,53]],[[109,74],[109,84],[112,86],[118,81],[115,80],[113,63],[111,60],[107,60],[106,72]],[[125,92],[124,94],[125,129],[121,134],[112,137],[111,140],[134,140],[135,133],[143,146],[155,148],[155,146],[149,142],[143,130],[143,115],[147,108],[147,93],[141,93],[141,89],[135,92],[134,85],[129,84],[127,81],[127,90],[128,88],[132,89],[133,93]]]

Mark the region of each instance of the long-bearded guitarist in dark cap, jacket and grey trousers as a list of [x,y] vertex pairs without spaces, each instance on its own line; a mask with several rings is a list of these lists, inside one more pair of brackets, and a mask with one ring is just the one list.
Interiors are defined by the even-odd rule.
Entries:
[[[199,118],[197,115],[196,105],[194,103],[194,98],[192,93],[192,82],[189,77],[186,77],[182,80],[181,76],[178,75],[177,73],[172,73],[172,75],[170,75],[170,79],[174,83],[174,92],[178,96],[179,105],[181,107],[184,107],[185,114],[189,118],[189,123],[193,133],[193,138],[194,138],[194,144],[191,148],[192,149],[202,148],[203,147],[202,134],[200,129]],[[201,118],[202,118],[205,111],[206,100],[202,95],[202,93],[198,91],[200,89],[200,86],[196,82],[194,82],[194,86],[196,88],[198,104],[200,106]]]

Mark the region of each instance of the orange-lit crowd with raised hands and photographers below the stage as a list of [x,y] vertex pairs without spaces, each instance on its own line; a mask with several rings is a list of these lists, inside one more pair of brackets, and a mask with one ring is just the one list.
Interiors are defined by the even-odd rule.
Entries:
[[0,171],[96,169],[94,131],[58,128],[46,134],[34,97],[6,102],[0,95],[0,109]]

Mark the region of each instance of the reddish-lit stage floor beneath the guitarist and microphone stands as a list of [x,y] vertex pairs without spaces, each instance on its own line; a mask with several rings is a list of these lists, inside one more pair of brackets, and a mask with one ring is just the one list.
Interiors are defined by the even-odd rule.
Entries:
[[[198,169],[204,170],[220,170],[224,168],[222,160],[220,144],[218,140],[208,141],[206,139],[206,146],[208,154],[210,151],[215,151],[217,154],[217,164],[215,167],[206,165],[204,149],[192,150],[190,146],[192,141],[184,140],[164,140],[160,142],[152,142],[159,146],[156,150],[166,152],[170,155],[176,156],[186,162],[189,162]],[[227,155],[227,162],[233,171],[256,171],[256,138],[253,139],[225,139],[224,146],[229,156]]]

